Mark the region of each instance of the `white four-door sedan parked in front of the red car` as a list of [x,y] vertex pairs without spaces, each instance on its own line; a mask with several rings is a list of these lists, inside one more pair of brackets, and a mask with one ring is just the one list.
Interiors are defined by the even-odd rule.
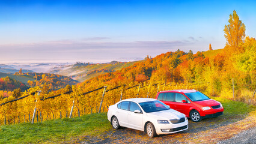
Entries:
[[183,113],[153,98],[130,98],[109,106],[108,120],[113,128],[141,130],[149,137],[184,131],[188,121]]

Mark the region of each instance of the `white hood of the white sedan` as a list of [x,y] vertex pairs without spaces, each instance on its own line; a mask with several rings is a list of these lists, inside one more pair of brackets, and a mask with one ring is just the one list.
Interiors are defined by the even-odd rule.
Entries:
[[180,119],[185,117],[183,113],[180,113],[177,110],[173,109],[147,113],[147,116],[158,120]]

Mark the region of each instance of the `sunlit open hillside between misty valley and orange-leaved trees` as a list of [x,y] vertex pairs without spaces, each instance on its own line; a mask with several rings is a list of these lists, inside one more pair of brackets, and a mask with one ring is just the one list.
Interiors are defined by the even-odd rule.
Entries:
[[[139,61],[135,61],[135,62],[139,62]],[[120,63],[120,64],[94,64],[94,65],[88,65],[85,67],[70,67],[66,70],[62,70],[62,71],[58,71],[56,74],[61,74],[63,76],[72,76],[72,77],[76,77],[78,76],[78,74],[84,74],[84,76],[79,77],[78,80],[79,82],[84,82],[84,80],[88,80],[92,77],[96,77],[99,76],[100,74],[105,74],[106,72],[104,71],[100,71],[97,73],[93,73],[90,75],[86,75],[88,72],[90,71],[94,71],[94,70],[102,70],[102,69],[106,69],[106,70],[112,70],[112,71],[117,71],[117,70],[121,70],[121,68],[125,68],[125,67],[129,67],[130,65],[135,64],[135,62],[127,62],[127,64],[124,63]]]

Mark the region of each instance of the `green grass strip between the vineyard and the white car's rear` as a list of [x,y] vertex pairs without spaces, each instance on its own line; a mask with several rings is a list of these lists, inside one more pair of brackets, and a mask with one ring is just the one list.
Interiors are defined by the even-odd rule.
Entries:
[[59,143],[84,135],[108,131],[111,125],[106,113],[64,118],[35,124],[23,123],[0,126],[0,143]]

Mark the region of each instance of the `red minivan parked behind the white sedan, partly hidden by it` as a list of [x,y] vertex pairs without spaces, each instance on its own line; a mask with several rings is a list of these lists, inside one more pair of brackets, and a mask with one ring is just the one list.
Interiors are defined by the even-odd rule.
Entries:
[[157,93],[156,99],[171,109],[184,113],[194,122],[200,122],[203,118],[215,118],[223,115],[224,111],[219,101],[212,100],[194,89],[161,91]]

